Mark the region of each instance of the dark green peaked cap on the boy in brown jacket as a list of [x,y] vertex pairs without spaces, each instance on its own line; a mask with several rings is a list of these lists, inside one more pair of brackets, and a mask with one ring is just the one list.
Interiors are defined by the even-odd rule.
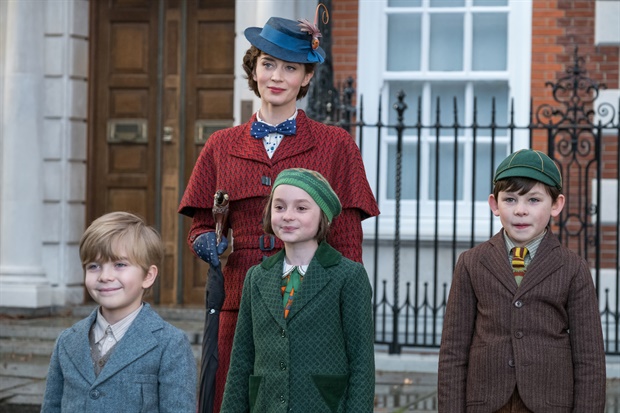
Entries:
[[551,158],[541,151],[521,149],[502,161],[493,184],[505,178],[530,178],[562,190],[562,174]]

